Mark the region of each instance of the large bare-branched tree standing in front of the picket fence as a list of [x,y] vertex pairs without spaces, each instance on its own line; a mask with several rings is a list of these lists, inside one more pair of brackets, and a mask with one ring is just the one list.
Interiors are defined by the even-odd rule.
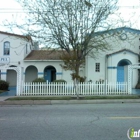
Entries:
[[[104,36],[97,37],[96,32],[115,26],[118,0],[17,1],[28,16],[24,24],[16,23],[12,28],[26,31],[49,48],[61,49],[64,52],[62,67],[72,70],[72,78],[77,85],[85,57],[95,57],[97,52],[108,49]],[[78,90],[76,93],[78,95]]]

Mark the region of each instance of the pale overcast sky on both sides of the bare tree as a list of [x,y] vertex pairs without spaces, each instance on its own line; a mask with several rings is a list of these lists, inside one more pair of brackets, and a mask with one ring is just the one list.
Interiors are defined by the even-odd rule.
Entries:
[[[131,21],[131,27],[140,30],[140,0],[119,0],[119,8],[122,19]],[[16,0],[4,0],[0,3],[0,31],[8,31],[6,27],[1,26],[3,21],[10,22],[15,18],[20,22],[22,17],[24,17],[22,7]],[[130,22],[123,26],[129,27]]]

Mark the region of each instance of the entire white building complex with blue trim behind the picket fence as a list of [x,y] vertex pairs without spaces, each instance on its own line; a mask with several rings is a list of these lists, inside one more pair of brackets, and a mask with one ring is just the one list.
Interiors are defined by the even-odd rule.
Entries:
[[[80,75],[86,77],[86,81],[93,82],[127,81],[127,66],[138,63],[140,30],[122,27],[95,35],[104,36],[110,49],[99,52],[96,59],[87,56],[85,68],[80,70]],[[63,63],[59,59],[60,55],[61,51],[35,50],[30,37],[0,32],[0,58],[10,60],[9,66],[24,67],[25,82],[31,82],[37,77],[44,77],[49,82],[55,79],[72,81],[72,72],[65,71],[60,66]],[[13,81],[11,71],[10,74],[9,71],[1,73],[1,78]],[[133,87],[137,79],[138,71],[133,70]],[[11,85],[15,85],[15,82]]]

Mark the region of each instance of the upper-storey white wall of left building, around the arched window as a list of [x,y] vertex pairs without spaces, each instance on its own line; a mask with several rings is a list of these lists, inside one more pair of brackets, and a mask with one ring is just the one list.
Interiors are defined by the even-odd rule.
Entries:
[[[10,55],[3,54],[4,42],[6,41],[10,42]],[[10,58],[9,65],[23,66],[23,59],[31,52],[32,49],[33,46],[31,41],[28,41],[23,37],[0,34],[0,57]]]

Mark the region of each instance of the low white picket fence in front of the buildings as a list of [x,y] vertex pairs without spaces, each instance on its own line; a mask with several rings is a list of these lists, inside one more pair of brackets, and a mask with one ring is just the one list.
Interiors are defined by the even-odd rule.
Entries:
[[[80,83],[79,95],[126,95],[127,83]],[[20,96],[76,95],[73,83],[24,83]]]

